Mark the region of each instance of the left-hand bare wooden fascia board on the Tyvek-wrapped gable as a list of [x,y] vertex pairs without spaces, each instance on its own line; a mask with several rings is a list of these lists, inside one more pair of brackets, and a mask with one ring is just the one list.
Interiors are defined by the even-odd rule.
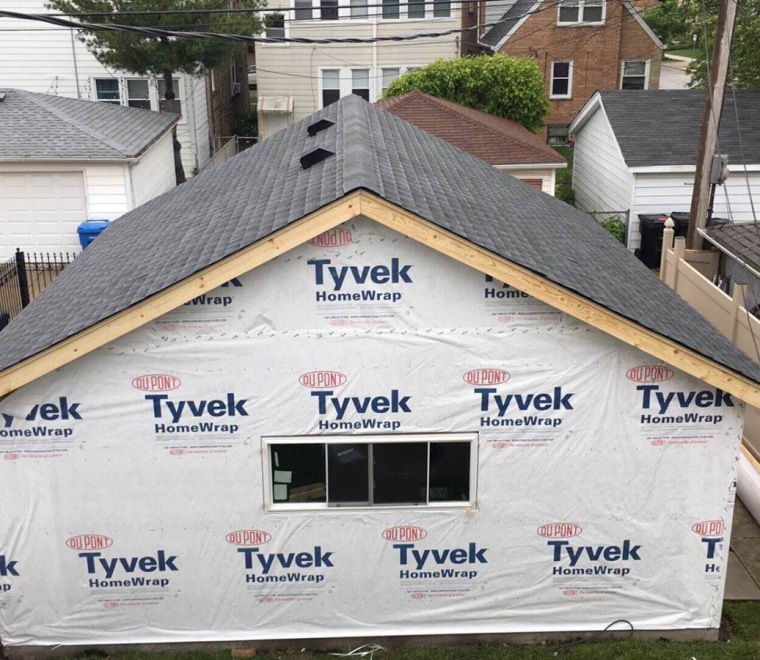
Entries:
[[352,193],[0,373],[0,397],[208,293],[359,214]]

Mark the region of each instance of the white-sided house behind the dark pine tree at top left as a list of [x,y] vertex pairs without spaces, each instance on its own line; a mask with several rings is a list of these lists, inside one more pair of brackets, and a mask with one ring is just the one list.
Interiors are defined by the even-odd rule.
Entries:
[[[2,9],[49,14],[45,0],[3,0]],[[16,18],[3,18],[0,87],[25,89],[73,99],[161,111],[164,82],[107,69],[76,38],[75,30]],[[178,73],[174,91],[180,111],[177,137],[189,177],[211,158],[206,81]]]

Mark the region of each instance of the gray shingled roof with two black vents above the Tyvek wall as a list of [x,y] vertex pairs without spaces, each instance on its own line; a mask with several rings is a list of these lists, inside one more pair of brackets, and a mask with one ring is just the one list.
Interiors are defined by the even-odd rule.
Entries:
[[[309,137],[320,118],[335,125]],[[302,169],[317,147],[335,155]],[[588,215],[356,96],[114,222],[0,333],[0,369],[356,190],[760,382],[760,368]]]

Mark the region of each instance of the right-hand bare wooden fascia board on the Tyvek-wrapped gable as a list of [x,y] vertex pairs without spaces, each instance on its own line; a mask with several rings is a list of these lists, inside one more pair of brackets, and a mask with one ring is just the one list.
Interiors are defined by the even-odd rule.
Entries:
[[370,193],[362,193],[361,214],[760,407],[760,385],[754,381],[432,222]]

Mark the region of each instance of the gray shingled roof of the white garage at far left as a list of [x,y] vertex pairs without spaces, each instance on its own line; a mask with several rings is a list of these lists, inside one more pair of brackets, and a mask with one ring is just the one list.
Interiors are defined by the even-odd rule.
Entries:
[[0,89],[0,161],[125,160],[140,156],[178,115]]

